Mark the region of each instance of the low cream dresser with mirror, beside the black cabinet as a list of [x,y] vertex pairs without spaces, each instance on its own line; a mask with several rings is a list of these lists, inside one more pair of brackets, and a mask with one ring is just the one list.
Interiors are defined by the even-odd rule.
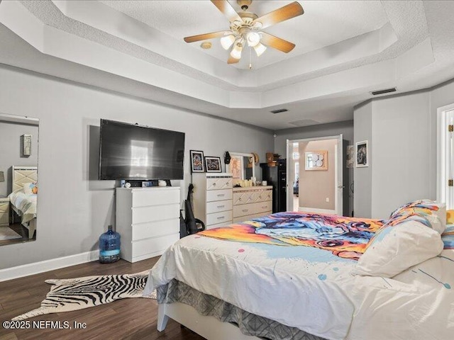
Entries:
[[272,213],[272,186],[233,188],[233,223]]

